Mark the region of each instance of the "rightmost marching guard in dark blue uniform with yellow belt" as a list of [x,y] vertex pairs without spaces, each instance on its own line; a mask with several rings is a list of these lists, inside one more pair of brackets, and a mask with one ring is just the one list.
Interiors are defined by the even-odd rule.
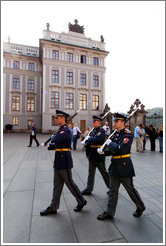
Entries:
[[125,129],[126,119],[127,117],[123,114],[114,114],[114,128],[117,129],[117,131],[112,140],[108,139],[106,141],[108,150],[105,150],[104,153],[101,152],[101,154],[106,156],[111,155],[112,159],[109,167],[110,191],[107,209],[97,216],[98,220],[112,219],[115,215],[120,184],[124,186],[130,198],[136,205],[137,209],[133,213],[133,216],[140,217],[145,210],[145,205],[133,185],[135,172],[130,159],[133,135],[128,129]]

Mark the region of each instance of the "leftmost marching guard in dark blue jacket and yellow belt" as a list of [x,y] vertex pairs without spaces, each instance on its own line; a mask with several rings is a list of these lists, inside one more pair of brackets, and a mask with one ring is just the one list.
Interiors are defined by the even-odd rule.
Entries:
[[72,179],[71,169],[73,168],[73,161],[70,151],[71,131],[66,124],[68,116],[67,113],[56,110],[55,120],[60,127],[58,132],[52,136],[51,139],[51,142],[55,143],[53,197],[50,206],[46,208],[46,210],[42,210],[40,215],[57,213],[64,183],[78,202],[77,206],[74,208],[75,212],[80,212],[87,203]]

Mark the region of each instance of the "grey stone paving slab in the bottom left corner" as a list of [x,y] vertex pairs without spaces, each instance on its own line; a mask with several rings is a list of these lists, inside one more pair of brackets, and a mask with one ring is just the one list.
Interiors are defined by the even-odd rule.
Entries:
[[5,243],[29,241],[33,191],[6,192],[3,204],[3,240]]

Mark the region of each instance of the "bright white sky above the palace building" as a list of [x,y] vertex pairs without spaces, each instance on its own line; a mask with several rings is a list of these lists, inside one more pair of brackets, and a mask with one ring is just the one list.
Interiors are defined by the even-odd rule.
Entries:
[[74,20],[100,41],[106,60],[105,103],[111,112],[165,105],[165,1],[1,1],[1,40],[39,46],[46,23],[68,33]]

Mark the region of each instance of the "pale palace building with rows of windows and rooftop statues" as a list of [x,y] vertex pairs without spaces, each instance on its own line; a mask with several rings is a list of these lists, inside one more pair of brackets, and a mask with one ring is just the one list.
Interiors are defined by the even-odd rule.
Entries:
[[39,47],[4,43],[4,128],[26,131],[35,121],[48,133],[56,128],[56,109],[72,115],[82,108],[73,122],[85,131],[104,110],[107,55],[103,37],[87,38],[77,20],[68,33],[50,31],[47,23]]

